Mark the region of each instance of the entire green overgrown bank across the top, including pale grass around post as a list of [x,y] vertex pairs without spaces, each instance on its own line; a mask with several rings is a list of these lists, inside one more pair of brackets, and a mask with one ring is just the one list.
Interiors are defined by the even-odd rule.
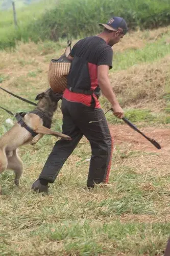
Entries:
[[62,0],[57,4],[55,0],[50,4],[42,0],[18,9],[17,30],[14,29],[12,11],[4,11],[0,18],[0,49],[15,47],[18,40],[57,41],[93,35],[101,31],[98,24],[106,23],[113,15],[123,16],[130,29],[167,26],[169,0],[162,0],[161,5],[158,0]]

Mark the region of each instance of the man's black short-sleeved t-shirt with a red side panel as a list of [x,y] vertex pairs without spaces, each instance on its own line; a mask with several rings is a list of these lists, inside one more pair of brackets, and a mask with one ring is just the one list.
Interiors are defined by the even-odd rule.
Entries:
[[99,36],[79,40],[72,48],[70,56],[74,59],[68,74],[68,88],[93,91],[98,87],[98,66],[107,65],[112,68],[112,48]]

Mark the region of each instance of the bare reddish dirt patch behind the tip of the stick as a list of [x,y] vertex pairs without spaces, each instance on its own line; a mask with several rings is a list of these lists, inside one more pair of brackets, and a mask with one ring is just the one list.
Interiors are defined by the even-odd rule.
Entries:
[[131,144],[133,150],[156,152],[163,155],[170,155],[170,128],[156,129],[147,127],[140,129],[148,137],[155,139],[160,145],[161,150],[152,145],[147,139],[133,131],[126,125],[110,125],[111,134],[114,137],[114,144]]

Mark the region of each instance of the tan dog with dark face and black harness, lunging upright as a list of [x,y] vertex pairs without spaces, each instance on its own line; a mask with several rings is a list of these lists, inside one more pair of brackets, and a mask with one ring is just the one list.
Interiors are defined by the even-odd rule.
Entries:
[[22,123],[24,121],[28,130],[31,128],[32,133],[26,130],[22,123],[17,122],[0,138],[0,174],[6,169],[12,169],[15,173],[15,185],[19,186],[23,170],[22,160],[17,153],[19,146],[36,144],[44,134],[71,140],[69,136],[50,129],[60,99],[62,94],[55,94],[52,89],[38,94],[35,99],[38,100],[36,108],[29,113],[20,113]]

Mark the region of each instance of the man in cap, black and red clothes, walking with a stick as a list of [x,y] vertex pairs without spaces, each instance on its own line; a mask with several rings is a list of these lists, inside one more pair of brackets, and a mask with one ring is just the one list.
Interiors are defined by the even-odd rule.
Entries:
[[79,40],[72,48],[68,59],[71,67],[68,74],[68,87],[62,99],[63,134],[71,141],[59,140],[42,169],[39,179],[32,189],[47,192],[48,183],[53,183],[66,159],[84,135],[91,145],[91,160],[87,187],[107,183],[112,155],[112,138],[109,127],[98,100],[100,90],[110,101],[114,115],[124,116],[108,77],[112,68],[112,46],[127,33],[128,27],[123,18],[113,17],[102,33]]

